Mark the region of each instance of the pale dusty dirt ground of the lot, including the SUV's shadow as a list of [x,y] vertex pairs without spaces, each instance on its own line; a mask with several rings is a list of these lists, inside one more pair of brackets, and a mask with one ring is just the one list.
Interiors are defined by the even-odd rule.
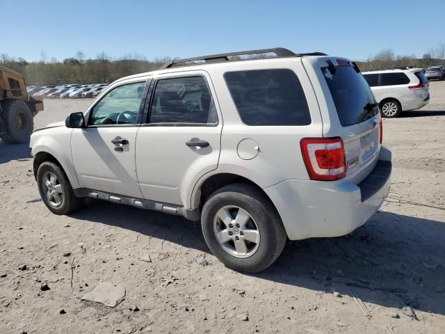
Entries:
[[[444,333],[445,82],[430,93],[384,120],[381,211],[345,237],[288,242],[256,275],[225,268],[184,218],[99,200],[51,214],[27,145],[0,141],[0,333]],[[35,128],[89,102],[45,100]],[[114,308],[81,300],[102,282],[125,289]]]

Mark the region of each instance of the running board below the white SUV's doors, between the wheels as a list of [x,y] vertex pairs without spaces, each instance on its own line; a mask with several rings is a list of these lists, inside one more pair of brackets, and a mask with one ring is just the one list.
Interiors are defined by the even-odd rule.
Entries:
[[183,216],[189,221],[200,221],[200,209],[186,209],[174,204],[163,202],[155,202],[154,200],[144,200],[142,198],[132,198],[127,196],[115,195],[113,193],[105,193],[104,191],[97,191],[87,188],[72,189],[74,195],[77,197],[89,197],[97,200],[108,200],[108,202],[131,205],[132,207],[139,207],[140,209],[154,210],[164,212],[165,214],[174,214],[175,216]]

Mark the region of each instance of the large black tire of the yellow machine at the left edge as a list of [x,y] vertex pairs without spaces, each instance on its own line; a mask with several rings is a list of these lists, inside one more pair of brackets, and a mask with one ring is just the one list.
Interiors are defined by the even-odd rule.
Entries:
[[7,100],[1,117],[6,125],[6,134],[2,135],[6,143],[27,143],[33,132],[34,118],[28,104],[20,100]]

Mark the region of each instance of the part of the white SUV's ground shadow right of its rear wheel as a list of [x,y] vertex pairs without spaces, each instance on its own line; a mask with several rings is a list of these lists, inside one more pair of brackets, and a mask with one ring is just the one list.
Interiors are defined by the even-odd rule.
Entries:
[[345,237],[291,241],[255,276],[445,315],[445,223],[390,212]]

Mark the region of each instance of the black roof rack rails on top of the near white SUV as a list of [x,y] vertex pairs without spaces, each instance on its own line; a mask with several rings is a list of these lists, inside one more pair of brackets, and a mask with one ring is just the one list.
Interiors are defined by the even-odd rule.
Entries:
[[[258,50],[248,50],[248,51],[238,51],[238,52],[229,52],[227,54],[211,54],[209,56],[199,56],[193,58],[184,58],[184,59],[176,59],[174,61],[170,61],[165,63],[159,70],[163,70],[165,68],[172,67],[173,65],[179,65],[181,63],[188,63],[191,61],[204,61],[205,63],[220,63],[224,61],[238,61],[238,59],[229,59],[231,56],[245,56],[248,54],[276,54],[276,58],[282,57],[298,57],[298,56],[326,56],[322,52],[310,52],[307,54],[294,54],[289,49],[284,49],[283,47],[275,47],[273,49],[258,49]],[[268,57],[268,58],[275,58]],[[184,64],[185,65],[185,64]],[[182,65],[182,66],[184,66]],[[181,65],[179,65],[181,66]]]

